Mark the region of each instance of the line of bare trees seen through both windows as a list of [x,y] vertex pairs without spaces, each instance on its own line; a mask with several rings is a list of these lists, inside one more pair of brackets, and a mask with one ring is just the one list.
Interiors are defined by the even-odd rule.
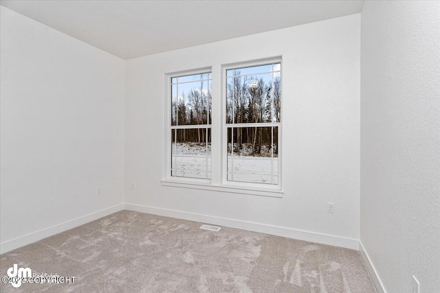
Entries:
[[[239,75],[239,72],[237,73]],[[263,78],[240,77],[228,78],[226,93],[226,123],[245,124],[261,122],[279,122],[281,112],[281,80],[265,82]],[[181,93],[180,99],[173,99],[171,125],[206,125],[210,124],[211,91],[203,82],[199,88]],[[173,132],[174,133],[174,132]],[[230,134],[232,132],[229,131]],[[177,131],[177,142],[205,143],[206,128],[195,128]],[[175,137],[173,136],[173,141]],[[232,135],[228,134],[228,143]],[[243,144],[252,145],[252,155],[267,152],[274,141],[274,154],[278,153],[278,128],[263,127],[234,128],[234,151],[242,150]],[[210,141],[210,138],[208,138]],[[264,150],[263,150],[264,149]]]

